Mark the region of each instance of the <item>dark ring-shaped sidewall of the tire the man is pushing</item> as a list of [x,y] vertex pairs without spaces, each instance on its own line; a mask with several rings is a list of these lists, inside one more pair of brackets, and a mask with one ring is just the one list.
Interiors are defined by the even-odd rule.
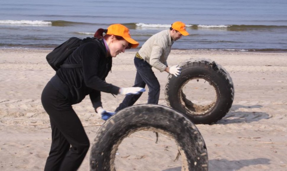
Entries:
[[[215,106],[211,111],[203,115],[190,114],[185,106],[181,104],[180,91],[182,86],[193,78],[202,78],[209,81],[214,86],[217,94]],[[205,65],[204,67],[183,67],[181,75],[178,77],[172,76],[168,83],[169,92],[166,92],[168,94],[167,100],[172,108],[185,114],[194,123],[211,123],[221,119],[222,111],[228,111],[231,107],[233,101],[230,101],[230,99],[233,99],[233,97],[231,97],[232,93],[229,91],[230,88],[228,85],[229,81],[226,79],[226,76],[220,70],[213,70],[210,65]]]

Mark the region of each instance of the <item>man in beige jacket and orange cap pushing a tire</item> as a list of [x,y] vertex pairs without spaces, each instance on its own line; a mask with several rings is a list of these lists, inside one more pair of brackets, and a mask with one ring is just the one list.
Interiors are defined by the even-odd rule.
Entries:
[[[160,85],[157,77],[154,75],[151,67],[154,67],[161,72],[173,74],[177,77],[180,75],[180,69],[178,65],[168,67],[167,57],[170,53],[172,44],[183,36],[189,35],[186,31],[185,24],[183,22],[174,22],[170,29],[163,30],[157,34],[151,36],[136,53],[134,63],[136,66],[136,80],[133,87],[142,87],[146,85],[149,87],[148,104],[158,104]],[[120,106],[117,107],[115,112],[120,111],[123,108],[132,106],[142,93],[138,95],[125,96]]]

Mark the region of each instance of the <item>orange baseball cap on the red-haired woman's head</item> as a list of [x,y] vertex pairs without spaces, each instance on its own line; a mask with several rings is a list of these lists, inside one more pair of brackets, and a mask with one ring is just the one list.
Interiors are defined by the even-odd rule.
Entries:
[[136,40],[133,40],[130,37],[130,30],[125,27],[122,24],[112,24],[108,27],[107,34],[113,34],[115,36],[121,36],[126,41],[128,41],[131,45],[131,47],[135,48],[139,45],[139,43]]

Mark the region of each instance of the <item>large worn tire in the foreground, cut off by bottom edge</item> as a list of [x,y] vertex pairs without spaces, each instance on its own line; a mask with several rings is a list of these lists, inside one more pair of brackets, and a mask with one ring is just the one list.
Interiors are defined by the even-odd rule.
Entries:
[[141,130],[173,138],[182,157],[182,170],[208,170],[207,149],[196,126],[178,111],[152,104],[125,108],[101,126],[91,147],[90,170],[114,171],[120,143]]

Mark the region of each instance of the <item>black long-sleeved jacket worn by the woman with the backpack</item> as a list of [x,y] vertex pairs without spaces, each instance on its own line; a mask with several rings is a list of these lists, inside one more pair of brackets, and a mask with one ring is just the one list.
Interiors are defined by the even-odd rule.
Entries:
[[61,67],[56,76],[64,85],[57,83],[56,87],[60,91],[66,91],[63,94],[67,94],[71,104],[80,103],[89,94],[93,107],[97,108],[102,106],[101,91],[118,94],[120,88],[105,82],[112,68],[112,57],[108,56],[103,40],[86,40],[87,42],[80,45],[64,62],[82,64],[83,67]]

